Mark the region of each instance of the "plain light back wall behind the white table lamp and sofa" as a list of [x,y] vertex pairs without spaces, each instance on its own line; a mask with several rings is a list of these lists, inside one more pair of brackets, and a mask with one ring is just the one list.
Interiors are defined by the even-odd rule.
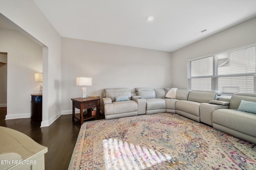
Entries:
[[169,52],[62,38],[62,111],[82,96],[76,77],[91,77],[87,95],[102,98],[104,88],[170,87],[170,64]]

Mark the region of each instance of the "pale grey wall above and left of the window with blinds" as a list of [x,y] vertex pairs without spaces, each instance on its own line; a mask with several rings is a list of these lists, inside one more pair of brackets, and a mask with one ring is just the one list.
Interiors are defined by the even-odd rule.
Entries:
[[172,87],[188,88],[187,60],[256,42],[256,17],[172,52]]

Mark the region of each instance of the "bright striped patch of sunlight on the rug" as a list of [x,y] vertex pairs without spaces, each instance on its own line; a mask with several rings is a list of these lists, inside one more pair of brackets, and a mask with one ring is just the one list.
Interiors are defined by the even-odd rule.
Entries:
[[167,154],[118,139],[103,140],[105,169],[142,170],[171,160]]

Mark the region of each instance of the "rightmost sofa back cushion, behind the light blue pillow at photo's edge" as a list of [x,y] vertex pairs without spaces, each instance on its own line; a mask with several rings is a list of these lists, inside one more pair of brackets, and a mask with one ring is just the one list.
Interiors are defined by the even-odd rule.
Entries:
[[241,100],[256,102],[256,93],[236,93],[230,99],[229,109],[238,109]]

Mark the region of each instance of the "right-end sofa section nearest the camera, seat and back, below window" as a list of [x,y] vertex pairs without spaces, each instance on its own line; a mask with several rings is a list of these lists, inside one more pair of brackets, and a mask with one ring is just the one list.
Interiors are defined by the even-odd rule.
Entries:
[[[238,110],[241,101],[256,102],[256,93],[237,93],[230,99],[230,104],[226,109],[216,109],[212,112],[212,127],[256,144],[256,105],[252,107],[254,113]],[[214,101],[212,101],[214,102]],[[243,110],[243,108],[241,107]]]

